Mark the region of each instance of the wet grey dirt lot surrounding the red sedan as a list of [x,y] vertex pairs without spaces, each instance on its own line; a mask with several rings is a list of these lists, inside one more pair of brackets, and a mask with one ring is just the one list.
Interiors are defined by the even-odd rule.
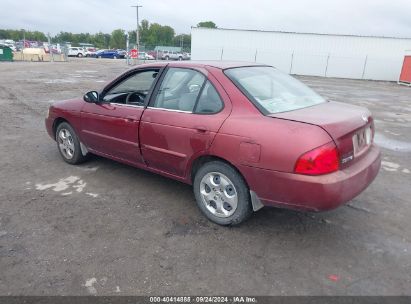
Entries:
[[301,79],[367,106],[383,166],[348,205],[208,222],[189,186],[94,157],[64,163],[50,103],[100,88],[120,60],[0,64],[1,295],[411,295],[411,88]]

